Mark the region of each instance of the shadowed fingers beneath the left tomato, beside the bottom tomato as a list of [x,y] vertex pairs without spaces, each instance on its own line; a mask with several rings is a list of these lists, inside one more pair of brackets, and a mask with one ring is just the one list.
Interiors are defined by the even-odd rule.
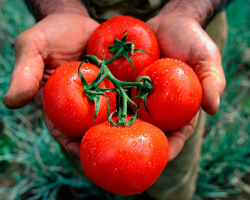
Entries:
[[56,129],[56,127],[49,120],[45,111],[43,110],[44,122],[51,134],[51,136],[72,156],[80,159],[80,144],[81,139],[75,137],[69,137]]

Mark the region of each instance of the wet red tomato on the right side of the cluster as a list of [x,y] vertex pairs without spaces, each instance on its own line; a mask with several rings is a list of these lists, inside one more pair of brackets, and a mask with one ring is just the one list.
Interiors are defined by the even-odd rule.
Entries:
[[[163,131],[172,131],[186,125],[199,110],[201,84],[193,69],[185,63],[170,58],[160,59],[138,77],[141,76],[149,76],[153,84],[146,101],[151,118],[141,106],[141,119]],[[135,96],[135,91],[132,95]]]

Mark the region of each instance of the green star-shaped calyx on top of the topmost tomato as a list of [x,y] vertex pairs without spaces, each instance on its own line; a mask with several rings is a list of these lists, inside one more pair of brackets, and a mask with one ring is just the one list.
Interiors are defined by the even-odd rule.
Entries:
[[150,53],[150,52],[144,51],[142,49],[135,49],[135,45],[132,42],[128,42],[128,40],[132,38],[127,38],[127,35],[126,35],[127,31],[128,30],[126,30],[123,33],[123,37],[121,40],[115,38],[114,45],[109,46],[109,50],[114,52],[114,56],[111,59],[105,61],[105,64],[108,65],[111,62],[113,62],[116,58],[124,56],[133,67],[133,71],[135,73],[134,64],[131,58],[129,57],[129,53],[133,56],[134,52],[139,52],[139,53]]

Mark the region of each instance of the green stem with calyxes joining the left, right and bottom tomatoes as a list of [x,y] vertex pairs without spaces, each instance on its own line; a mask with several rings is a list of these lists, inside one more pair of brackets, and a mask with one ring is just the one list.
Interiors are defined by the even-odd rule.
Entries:
[[[82,73],[80,71],[81,65],[84,62],[91,62],[91,63],[100,67],[100,70],[98,72],[97,77],[90,84],[88,84],[86,82],[84,76],[82,75]],[[98,59],[96,56],[93,56],[93,55],[86,55],[84,57],[83,61],[79,65],[78,74],[79,74],[79,77],[81,79],[85,95],[91,101],[95,102],[94,119],[96,119],[96,117],[98,115],[99,108],[100,108],[100,95],[103,95],[108,99],[108,112],[107,112],[108,113],[108,120],[109,120],[110,124],[113,126],[121,126],[121,127],[131,126],[138,118],[140,99],[143,100],[144,106],[145,106],[145,108],[147,108],[146,97],[149,94],[150,90],[152,89],[151,79],[148,76],[140,77],[136,82],[120,81],[112,75],[112,73],[110,72],[110,70],[108,69],[108,67],[106,65],[106,61],[101,61],[100,59]],[[109,79],[114,84],[115,89],[98,88],[99,84],[105,78]],[[133,98],[133,99],[139,98],[138,106],[127,95],[126,90],[129,88],[136,88],[137,91],[140,91],[140,93],[136,97]],[[115,111],[115,112],[118,112],[117,122],[114,122],[112,120],[112,116],[115,112],[113,112],[111,114],[109,113],[109,97],[104,94],[106,92],[116,92],[118,95],[118,111]],[[130,104],[132,106],[137,107],[137,109],[134,113],[134,116],[129,121],[126,121],[126,119],[127,119],[127,104]]]

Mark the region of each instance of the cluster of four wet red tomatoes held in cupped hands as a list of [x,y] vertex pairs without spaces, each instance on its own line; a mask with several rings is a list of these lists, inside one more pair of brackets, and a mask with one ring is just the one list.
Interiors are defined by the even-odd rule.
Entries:
[[[139,118],[132,124],[115,126],[107,120],[109,112],[116,109],[118,116],[112,120],[117,122],[122,116],[121,108],[117,108],[119,92],[112,80],[102,78],[99,66],[91,62],[58,67],[47,81],[43,97],[45,111],[57,129],[82,137],[80,160],[89,179],[108,192],[130,195],[146,190],[159,177],[169,153],[164,132],[187,124],[197,113],[202,94],[192,68],[175,59],[159,59],[152,30],[138,19],[119,16],[102,23],[89,39],[87,54],[100,61],[112,59],[115,53],[110,47],[119,45],[125,31],[126,41],[136,49],[119,54],[107,67],[119,83],[132,84],[148,77],[152,86],[138,108]],[[93,82],[88,89],[84,87]],[[91,93],[94,97],[104,91],[97,98],[98,104],[86,95],[91,88],[96,89]],[[131,99],[138,97],[137,89],[129,92]],[[133,99],[135,105],[139,106],[139,99]],[[128,115],[126,120],[130,119]]]

